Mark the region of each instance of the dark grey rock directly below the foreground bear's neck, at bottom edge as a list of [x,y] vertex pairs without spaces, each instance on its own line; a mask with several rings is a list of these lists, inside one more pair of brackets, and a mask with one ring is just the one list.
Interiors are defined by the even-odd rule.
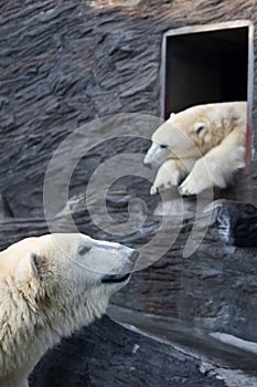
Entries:
[[143,337],[108,317],[50,352],[31,376],[33,387],[223,387],[200,360]]

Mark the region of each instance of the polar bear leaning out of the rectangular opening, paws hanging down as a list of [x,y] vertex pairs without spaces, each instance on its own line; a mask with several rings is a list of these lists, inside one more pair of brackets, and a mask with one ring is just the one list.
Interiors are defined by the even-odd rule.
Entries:
[[[197,105],[172,113],[152,135],[143,164],[160,166],[151,195],[179,186],[181,195],[225,188],[245,166],[246,102]],[[188,177],[186,177],[188,176]]]

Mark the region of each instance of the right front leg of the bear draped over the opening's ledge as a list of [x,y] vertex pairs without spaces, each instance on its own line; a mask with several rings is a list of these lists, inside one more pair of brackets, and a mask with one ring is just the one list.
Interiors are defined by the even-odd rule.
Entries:
[[217,147],[195,161],[191,174],[179,187],[184,196],[211,187],[225,188],[235,170],[245,166],[245,137],[233,130]]

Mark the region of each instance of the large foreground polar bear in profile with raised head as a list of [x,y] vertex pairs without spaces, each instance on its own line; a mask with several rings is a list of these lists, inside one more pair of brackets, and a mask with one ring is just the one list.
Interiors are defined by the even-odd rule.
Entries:
[[81,233],[28,238],[1,251],[0,386],[29,386],[50,347],[105,313],[137,255]]

